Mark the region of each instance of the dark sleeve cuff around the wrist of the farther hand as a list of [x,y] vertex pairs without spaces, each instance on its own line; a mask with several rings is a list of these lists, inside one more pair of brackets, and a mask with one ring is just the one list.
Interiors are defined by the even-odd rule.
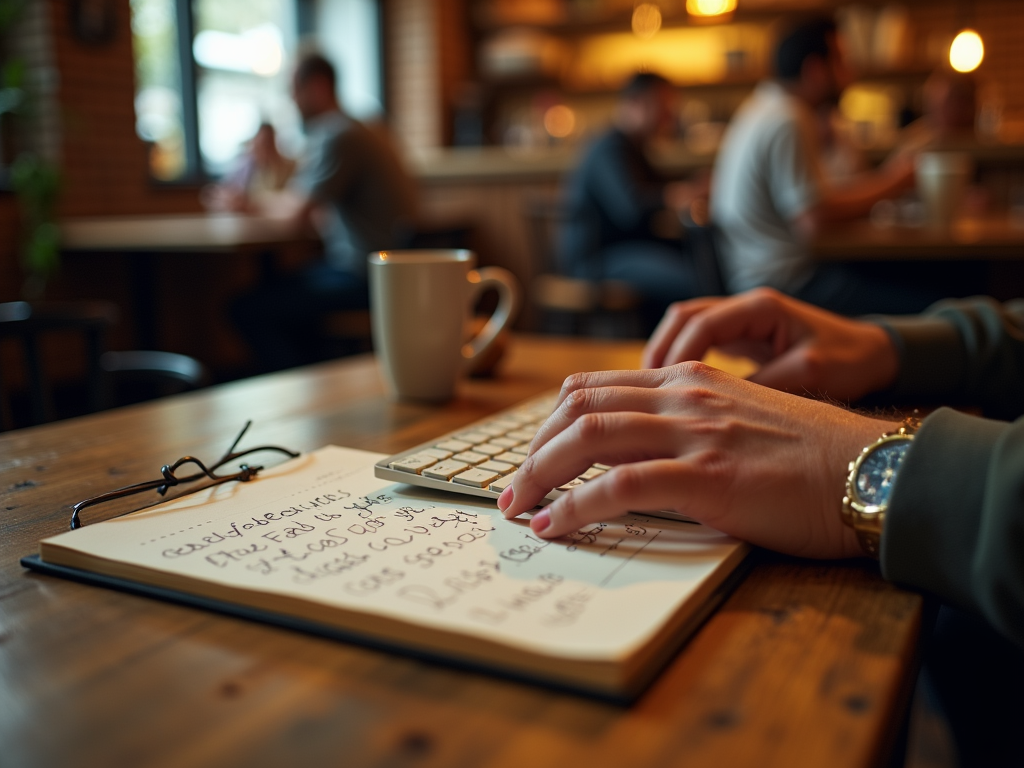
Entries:
[[967,350],[953,324],[928,315],[868,319],[889,334],[899,355],[899,374],[887,398],[948,400],[961,390]]

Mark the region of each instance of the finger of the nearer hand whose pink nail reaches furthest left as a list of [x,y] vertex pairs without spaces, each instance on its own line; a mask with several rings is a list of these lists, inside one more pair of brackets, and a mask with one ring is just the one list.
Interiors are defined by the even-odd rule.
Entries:
[[679,452],[675,419],[647,414],[587,414],[540,451],[526,457],[512,480],[502,513],[528,512],[552,488],[579,477],[595,463],[626,464]]

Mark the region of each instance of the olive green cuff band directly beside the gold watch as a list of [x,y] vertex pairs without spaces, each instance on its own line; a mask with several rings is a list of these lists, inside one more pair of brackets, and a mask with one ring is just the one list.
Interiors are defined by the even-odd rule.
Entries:
[[886,579],[978,610],[972,555],[992,453],[1008,428],[950,409],[925,420],[886,512],[880,553]]

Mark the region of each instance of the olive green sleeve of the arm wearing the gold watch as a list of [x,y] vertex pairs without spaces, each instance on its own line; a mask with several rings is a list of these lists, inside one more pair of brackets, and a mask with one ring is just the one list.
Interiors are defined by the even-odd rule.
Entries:
[[985,616],[1024,646],[1024,419],[940,409],[900,467],[882,537],[886,579]]

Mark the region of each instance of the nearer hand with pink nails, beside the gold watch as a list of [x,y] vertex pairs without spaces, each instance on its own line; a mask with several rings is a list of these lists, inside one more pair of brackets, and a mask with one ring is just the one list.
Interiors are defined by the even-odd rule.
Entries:
[[498,506],[515,517],[609,464],[537,512],[534,532],[671,509],[779,552],[851,557],[862,553],[840,517],[848,464],[893,426],[699,362],[577,374]]

